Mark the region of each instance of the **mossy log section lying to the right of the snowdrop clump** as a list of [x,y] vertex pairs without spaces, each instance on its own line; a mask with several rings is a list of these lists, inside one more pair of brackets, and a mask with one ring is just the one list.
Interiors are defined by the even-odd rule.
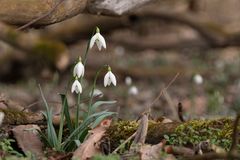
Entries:
[[[103,143],[110,142],[110,149],[116,149],[122,140],[130,137],[138,127],[135,121],[119,121],[106,132]],[[240,126],[239,126],[240,127]],[[161,123],[149,121],[146,143],[157,144],[163,139],[173,145],[194,145],[209,140],[225,149],[231,145],[233,119],[191,120],[184,123]]]

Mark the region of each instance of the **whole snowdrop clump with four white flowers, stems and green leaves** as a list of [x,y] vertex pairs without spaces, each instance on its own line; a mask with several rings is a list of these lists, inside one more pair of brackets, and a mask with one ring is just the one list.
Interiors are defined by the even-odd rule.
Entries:
[[[74,121],[70,117],[69,105],[66,94],[60,94],[62,101],[60,124],[58,128],[55,128],[52,122],[52,108],[49,107],[41,90],[41,87],[39,87],[46,108],[46,112],[44,112],[43,114],[47,120],[46,133],[40,132],[40,135],[44,140],[45,144],[56,151],[73,151],[77,148],[77,146],[79,146],[79,144],[84,141],[84,139],[88,135],[88,131],[91,128],[96,127],[106,117],[113,116],[115,114],[114,112],[109,112],[107,110],[96,112],[96,108],[98,108],[102,104],[113,104],[116,101],[96,101],[95,103],[93,103],[93,98],[96,91],[96,82],[101,72],[106,72],[103,80],[103,85],[105,87],[110,86],[111,84],[114,86],[117,85],[116,77],[108,64],[104,64],[96,72],[93,85],[89,93],[89,103],[87,105],[87,108],[82,108],[83,105],[81,103],[81,95],[85,91],[84,87],[82,86],[82,80],[85,75],[85,66],[87,63],[89,49],[92,49],[95,44],[98,47],[99,51],[101,51],[102,48],[107,48],[106,41],[104,37],[100,34],[100,29],[98,27],[96,27],[94,35],[92,35],[91,39],[87,44],[83,58],[79,56],[73,68],[73,83],[71,86],[71,94],[76,95],[76,115],[74,117]],[[83,110],[85,110],[86,112],[83,112]],[[69,134],[64,135],[63,137],[65,124],[67,126],[67,129],[69,130]]]

